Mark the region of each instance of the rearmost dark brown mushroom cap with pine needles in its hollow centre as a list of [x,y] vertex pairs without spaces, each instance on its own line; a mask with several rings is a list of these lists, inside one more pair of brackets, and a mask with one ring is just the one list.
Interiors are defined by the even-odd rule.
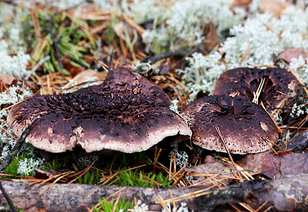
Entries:
[[213,95],[228,94],[233,97],[240,95],[252,100],[253,92],[257,91],[262,79],[265,79],[265,82],[259,102],[263,102],[268,112],[272,112],[288,101],[286,95],[294,97],[301,89],[297,79],[290,72],[281,68],[235,68],[226,71],[219,77]]

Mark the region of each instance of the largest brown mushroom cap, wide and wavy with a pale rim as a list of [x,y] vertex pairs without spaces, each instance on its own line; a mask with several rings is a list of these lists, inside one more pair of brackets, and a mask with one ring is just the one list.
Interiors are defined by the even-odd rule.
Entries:
[[30,98],[9,111],[17,136],[32,124],[26,142],[48,152],[103,149],[125,153],[147,150],[167,136],[191,135],[185,121],[170,110],[171,101],[146,78],[119,67],[101,85],[71,94]]

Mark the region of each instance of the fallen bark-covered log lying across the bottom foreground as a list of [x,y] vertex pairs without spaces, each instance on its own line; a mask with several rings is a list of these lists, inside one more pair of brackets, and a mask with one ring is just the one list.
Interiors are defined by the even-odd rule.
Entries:
[[[29,183],[2,181],[4,189],[18,210],[25,211],[86,211],[98,199],[107,198],[123,187],[106,185],[84,184],[55,184],[43,194],[40,194],[49,184],[32,190]],[[161,211],[161,206],[155,204],[155,197],[160,195],[164,200],[170,199],[168,189],[173,198],[204,189],[205,187],[180,188],[142,188],[127,187],[119,194],[125,194],[126,200],[136,197],[149,206],[151,211]],[[115,196],[116,197],[116,196]],[[225,190],[216,190],[212,194],[184,200],[189,210],[194,211],[228,211],[231,204],[246,203],[253,209],[260,207],[265,201],[261,211],[272,207],[273,211],[306,211],[308,209],[308,174],[288,175],[274,180],[251,180],[228,187]],[[172,205],[172,204],[171,204]],[[180,206],[179,202],[176,203]],[[3,195],[0,196],[0,207],[6,206]],[[86,207],[85,207],[86,206]],[[240,208],[239,205],[236,205]],[[240,208],[242,209],[242,208]]]

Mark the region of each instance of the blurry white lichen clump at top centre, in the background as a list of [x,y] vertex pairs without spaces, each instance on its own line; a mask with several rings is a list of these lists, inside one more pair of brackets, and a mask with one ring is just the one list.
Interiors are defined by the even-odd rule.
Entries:
[[165,22],[154,22],[154,28],[143,34],[147,50],[157,53],[164,50],[177,50],[199,44],[203,39],[203,26],[213,23],[218,34],[241,23],[245,11],[235,8],[231,11],[232,0],[178,0],[171,6],[171,15]]

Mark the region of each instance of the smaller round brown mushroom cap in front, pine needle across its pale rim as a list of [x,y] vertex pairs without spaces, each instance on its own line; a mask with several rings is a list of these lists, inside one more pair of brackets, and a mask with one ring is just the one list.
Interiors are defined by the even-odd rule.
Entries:
[[274,143],[278,140],[278,131],[267,112],[241,96],[203,97],[184,107],[181,114],[191,122],[192,142],[208,150],[226,152],[216,127],[228,150],[235,154],[270,149],[262,136]]

